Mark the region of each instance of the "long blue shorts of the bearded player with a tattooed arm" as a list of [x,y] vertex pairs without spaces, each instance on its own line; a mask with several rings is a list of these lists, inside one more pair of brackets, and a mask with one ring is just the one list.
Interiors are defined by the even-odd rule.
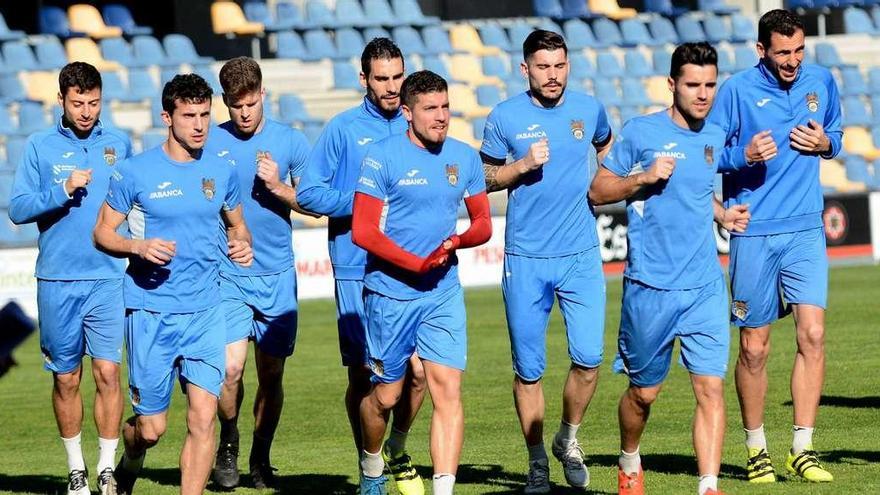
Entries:
[[602,363],[605,275],[598,247],[555,258],[506,254],[501,290],[517,376],[536,381],[544,375],[554,296],[565,321],[571,361],[587,368]]

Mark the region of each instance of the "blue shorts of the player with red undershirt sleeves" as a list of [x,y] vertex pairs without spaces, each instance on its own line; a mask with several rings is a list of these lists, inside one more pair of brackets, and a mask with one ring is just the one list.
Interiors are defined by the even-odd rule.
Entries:
[[403,379],[409,358],[464,370],[467,318],[461,286],[402,301],[367,290],[367,348],[373,381]]

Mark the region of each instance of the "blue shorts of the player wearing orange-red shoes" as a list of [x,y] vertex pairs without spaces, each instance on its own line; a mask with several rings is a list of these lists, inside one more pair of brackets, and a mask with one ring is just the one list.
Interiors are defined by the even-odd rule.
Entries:
[[676,337],[689,372],[724,378],[730,351],[724,277],[687,290],[655,289],[625,278],[614,370],[636,386],[659,385],[669,373]]

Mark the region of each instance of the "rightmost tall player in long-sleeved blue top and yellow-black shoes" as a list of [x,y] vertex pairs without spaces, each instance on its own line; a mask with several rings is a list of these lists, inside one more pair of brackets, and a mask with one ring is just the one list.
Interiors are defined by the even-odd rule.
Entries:
[[746,434],[749,481],[776,480],[764,435],[770,324],[794,314],[791,373],[794,425],[785,461],[813,482],[834,477],[813,449],[825,379],[828,257],[820,158],[841,149],[840,98],[828,69],[804,64],[804,25],[772,10],[758,22],[755,67],[719,90],[710,120],[727,133],[722,161],[726,204],[751,204],[748,229],[730,240],[731,320],[740,327],[736,390]]

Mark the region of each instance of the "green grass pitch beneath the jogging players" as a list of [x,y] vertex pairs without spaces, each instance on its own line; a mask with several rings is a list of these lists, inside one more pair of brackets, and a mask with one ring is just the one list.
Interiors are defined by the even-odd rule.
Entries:
[[[880,267],[841,267],[831,271],[827,315],[827,378],[815,445],[836,481],[809,485],[783,475],[775,485],[749,486],[744,480],[743,433],[733,386],[736,340],[726,385],[728,428],[721,488],[736,494],[880,493]],[[608,283],[605,364],[599,388],[581,426],[579,438],[588,456],[592,493],[616,493],[618,432],[616,405],[626,381],[610,371],[620,314],[619,279]],[[511,395],[511,366],[501,293],[497,289],[467,292],[469,360],[464,381],[465,445],[456,493],[520,493],[526,453]],[[769,365],[766,430],[777,472],[782,473],[791,437],[789,374],[795,349],[792,320],[773,330]],[[734,337],[736,334],[733,334]],[[554,310],[548,331],[546,443],[560,414],[562,380],[568,367],[564,334]],[[36,338],[16,355],[20,366],[0,380],[0,493],[61,493],[66,481],[64,451],[50,404],[51,379],[41,371]],[[88,375],[87,375],[88,376]],[[246,375],[242,408],[242,461],[246,468],[252,428],[254,391],[252,361]],[[90,377],[87,378],[90,380]],[[91,422],[94,385],[84,382],[87,424],[83,445],[94,470],[97,438]],[[332,301],[301,305],[297,349],[285,375],[286,405],[272,458],[278,467],[275,493],[354,493],[356,455],[342,405],[344,369],[339,365]],[[178,491],[177,457],[184,432],[184,397],[176,394],[169,430],[147,455],[142,494]],[[655,405],[642,441],[646,485],[651,494],[696,492],[696,464],[690,440],[694,400],[685,371],[674,366]],[[130,411],[126,406],[126,414]],[[423,476],[429,476],[427,400],[410,434],[409,450]],[[554,492],[580,493],[565,485],[562,470],[551,460]],[[95,475],[90,480],[94,483]],[[247,484],[249,479],[243,476]],[[389,485],[390,486],[390,485]],[[426,483],[430,493],[430,483]],[[210,488],[210,487],[209,487]],[[393,489],[391,493],[395,493]],[[258,493],[239,488],[236,493]],[[270,492],[271,493],[271,492]]]

